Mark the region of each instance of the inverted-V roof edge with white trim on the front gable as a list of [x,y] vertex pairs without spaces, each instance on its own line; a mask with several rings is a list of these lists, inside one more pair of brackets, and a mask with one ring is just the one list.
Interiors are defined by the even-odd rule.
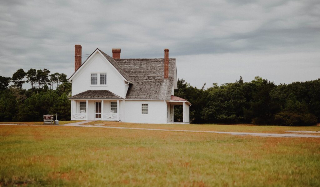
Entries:
[[124,72],[124,70],[115,62],[115,60],[113,58],[111,58],[109,55],[107,55],[106,53],[104,53],[103,51],[101,51],[100,49],[96,49],[93,53],[91,53],[91,55],[87,58],[87,60],[84,61],[84,63],[81,64],[81,66],[71,75],[71,77],[68,79],[68,81],[71,83],[72,82],[72,78],[74,78],[76,76],[76,74],[78,72],[80,72],[82,69],[84,69],[84,67],[86,66],[86,62],[89,61],[94,53],[100,53],[110,64],[112,64],[112,66],[116,69],[116,71],[121,75],[121,77],[124,78],[124,80],[126,82],[129,82],[131,84],[133,84],[133,81],[131,80],[131,78]]

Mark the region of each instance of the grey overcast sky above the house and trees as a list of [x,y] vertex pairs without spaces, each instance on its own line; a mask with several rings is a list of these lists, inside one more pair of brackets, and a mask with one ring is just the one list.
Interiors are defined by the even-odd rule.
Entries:
[[[178,78],[255,76],[276,84],[320,78],[319,0],[1,1],[0,75],[74,71],[74,45],[121,58],[177,59]],[[84,62],[86,58],[82,58]]]

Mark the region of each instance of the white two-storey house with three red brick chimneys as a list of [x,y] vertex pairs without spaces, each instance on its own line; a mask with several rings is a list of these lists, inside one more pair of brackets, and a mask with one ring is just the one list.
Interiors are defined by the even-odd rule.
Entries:
[[81,45],[75,45],[71,120],[110,120],[132,123],[173,123],[174,105],[183,105],[183,123],[189,123],[189,106],[174,96],[177,89],[176,59],[121,59],[120,49],[112,58],[96,49],[84,63]]

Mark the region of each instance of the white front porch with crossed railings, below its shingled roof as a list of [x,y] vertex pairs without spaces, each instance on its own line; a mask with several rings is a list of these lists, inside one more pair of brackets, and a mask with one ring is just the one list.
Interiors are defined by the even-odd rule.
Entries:
[[121,100],[71,100],[71,120],[120,121]]

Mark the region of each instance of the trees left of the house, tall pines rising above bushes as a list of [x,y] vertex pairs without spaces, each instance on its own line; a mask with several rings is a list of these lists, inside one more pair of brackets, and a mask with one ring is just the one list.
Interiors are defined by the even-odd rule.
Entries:
[[[44,114],[58,113],[70,120],[71,84],[67,75],[48,69],[18,69],[12,77],[0,76],[0,121],[42,121]],[[23,89],[24,84],[30,89]]]

